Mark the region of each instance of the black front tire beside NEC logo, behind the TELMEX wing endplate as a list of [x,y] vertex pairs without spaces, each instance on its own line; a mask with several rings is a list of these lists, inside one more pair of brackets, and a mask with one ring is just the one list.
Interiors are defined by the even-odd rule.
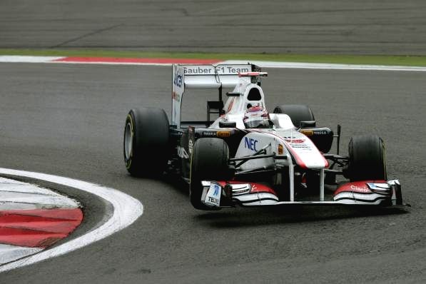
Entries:
[[228,179],[228,144],[219,138],[199,138],[193,146],[189,198],[194,208],[218,210],[201,202],[201,181],[223,181]]

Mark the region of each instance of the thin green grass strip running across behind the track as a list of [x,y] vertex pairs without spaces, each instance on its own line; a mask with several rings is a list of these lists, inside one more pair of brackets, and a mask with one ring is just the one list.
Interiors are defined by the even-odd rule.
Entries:
[[426,56],[315,55],[315,54],[204,54],[181,52],[117,51],[96,49],[0,49],[0,55],[83,56],[125,58],[218,59],[287,61],[328,64],[426,66]]

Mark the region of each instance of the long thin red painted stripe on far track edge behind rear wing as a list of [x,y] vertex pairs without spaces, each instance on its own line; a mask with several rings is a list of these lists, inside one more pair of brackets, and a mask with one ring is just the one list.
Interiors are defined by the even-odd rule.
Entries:
[[78,63],[136,63],[136,64],[215,64],[218,59],[131,59],[118,57],[76,57],[70,56],[56,59],[53,62]]

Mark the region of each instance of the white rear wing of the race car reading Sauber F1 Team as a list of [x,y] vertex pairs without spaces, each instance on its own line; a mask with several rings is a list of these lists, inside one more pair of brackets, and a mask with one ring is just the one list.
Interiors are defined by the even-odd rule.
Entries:
[[254,64],[173,64],[171,125],[181,128],[181,103],[186,88],[216,88],[219,91],[217,103],[223,106],[222,88],[233,88],[242,79],[250,82],[250,78],[239,76],[250,72],[260,72],[260,67]]

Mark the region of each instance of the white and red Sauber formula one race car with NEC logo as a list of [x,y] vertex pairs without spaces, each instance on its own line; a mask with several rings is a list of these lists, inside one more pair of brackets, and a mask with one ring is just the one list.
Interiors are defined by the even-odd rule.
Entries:
[[[340,126],[317,127],[305,105],[265,108],[261,72],[253,64],[173,65],[171,123],[162,109],[132,109],[124,160],[133,176],[177,173],[201,210],[233,206],[402,205],[400,183],[387,181],[385,146],[373,135],[350,139],[339,155]],[[206,121],[181,121],[187,88],[218,89]],[[226,93],[223,88],[233,88]],[[211,121],[211,115],[218,118]],[[337,154],[330,154],[337,138]],[[337,182],[336,176],[347,181]],[[333,194],[325,196],[325,185]]]

